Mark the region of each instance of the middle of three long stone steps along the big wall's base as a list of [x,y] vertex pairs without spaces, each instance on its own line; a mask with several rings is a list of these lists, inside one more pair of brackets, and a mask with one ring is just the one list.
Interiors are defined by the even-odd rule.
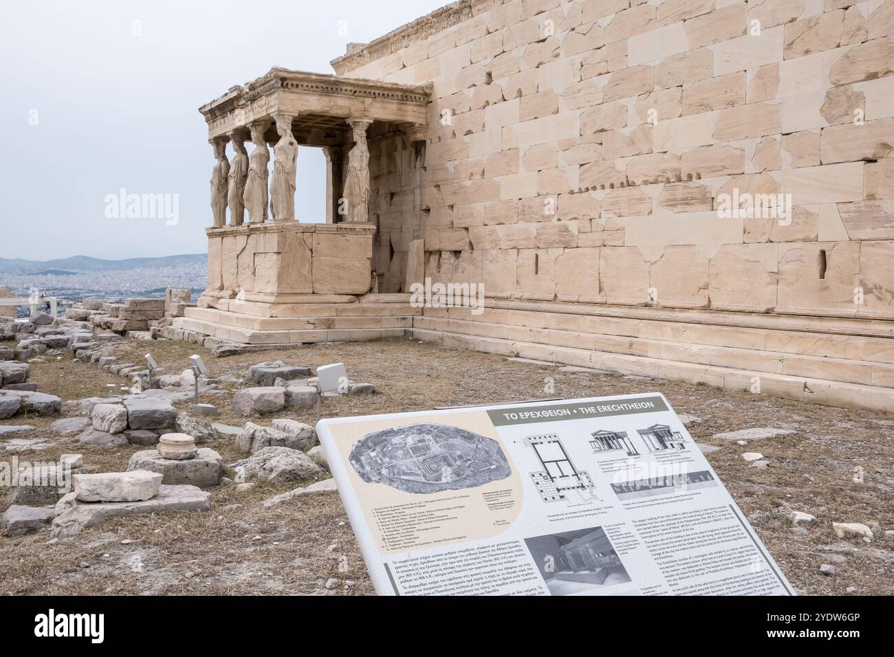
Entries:
[[680,361],[698,365],[746,368],[778,375],[894,388],[894,365],[848,358],[823,358],[779,351],[740,349],[690,342],[629,338],[563,329],[539,329],[443,317],[416,317],[414,327],[556,347]]

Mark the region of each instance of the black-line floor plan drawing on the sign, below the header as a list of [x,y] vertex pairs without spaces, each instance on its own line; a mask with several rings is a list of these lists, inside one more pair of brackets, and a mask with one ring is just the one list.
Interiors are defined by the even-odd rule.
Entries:
[[593,480],[585,471],[574,467],[558,435],[531,435],[524,442],[544,467],[540,472],[532,472],[531,478],[545,502],[564,501],[576,506],[597,500]]

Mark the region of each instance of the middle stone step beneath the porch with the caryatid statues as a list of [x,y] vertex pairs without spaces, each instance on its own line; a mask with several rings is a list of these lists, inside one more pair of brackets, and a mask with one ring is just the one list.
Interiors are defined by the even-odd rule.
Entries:
[[251,331],[409,328],[412,325],[412,316],[405,315],[258,317],[216,308],[191,307],[186,309],[186,316]]

